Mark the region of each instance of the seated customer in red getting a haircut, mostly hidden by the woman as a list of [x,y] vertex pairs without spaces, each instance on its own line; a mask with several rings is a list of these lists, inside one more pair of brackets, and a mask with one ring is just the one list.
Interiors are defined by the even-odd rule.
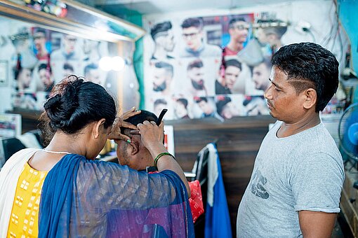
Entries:
[[[145,120],[157,122],[158,118],[151,113],[150,111],[141,110],[141,113],[138,115],[131,116],[130,118],[124,120],[126,123],[131,125],[138,125],[143,123]],[[128,128],[121,128],[121,134],[125,134],[128,137],[131,137],[131,143],[128,143],[125,140],[114,140],[117,143],[117,157],[120,165],[127,165],[132,169],[139,171],[147,172],[157,172],[157,168],[153,167],[153,158],[150,152],[142,144],[140,139],[140,134],[131,134],[131,130]],[[204,213],[204,206],[201,198],[201,190],[199,181],[194,181],[189,183],[190,190],[192,192],[192,197],[189,199],[190,208],[192,209],[193,221]],[[197,191],[193,191],[194,188],[198,188]]]

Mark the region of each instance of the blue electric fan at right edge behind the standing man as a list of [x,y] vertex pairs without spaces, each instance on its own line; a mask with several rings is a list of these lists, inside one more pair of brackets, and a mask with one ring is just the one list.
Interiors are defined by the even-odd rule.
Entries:
[[347,154],[353,167],[358,163],[358,103],[348,106],[338,125],[340,148]]

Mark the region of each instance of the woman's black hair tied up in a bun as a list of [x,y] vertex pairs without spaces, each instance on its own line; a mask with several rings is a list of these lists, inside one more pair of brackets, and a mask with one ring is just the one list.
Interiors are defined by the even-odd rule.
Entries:
[[[41,116],[53,132],[62,130],[67,134],[79,132],[89,123],[105,118],[104,127],[110,127],[116,117],[114,99],[104,87],[84,78],[68,76],[58,85],[55,96],[44,105],[46,116]],[[54,92],[54,91],[53,91]]]

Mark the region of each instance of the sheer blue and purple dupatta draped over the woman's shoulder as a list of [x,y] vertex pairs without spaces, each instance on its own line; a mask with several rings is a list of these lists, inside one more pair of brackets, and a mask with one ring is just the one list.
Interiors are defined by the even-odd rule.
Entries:
[[171,171],[137,172],[66,155],[41,193],[39,237],[194,237],[187,191]]

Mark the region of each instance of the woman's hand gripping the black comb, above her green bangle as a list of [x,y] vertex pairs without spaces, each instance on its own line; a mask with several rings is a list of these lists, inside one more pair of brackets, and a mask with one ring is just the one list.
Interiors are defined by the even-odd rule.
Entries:
[[164,139],[164,123],[161,122],[159,127],[152,121],[145,120],[137,125],[141,135],[142,144],[151,151],[152,147],[163,146]]

